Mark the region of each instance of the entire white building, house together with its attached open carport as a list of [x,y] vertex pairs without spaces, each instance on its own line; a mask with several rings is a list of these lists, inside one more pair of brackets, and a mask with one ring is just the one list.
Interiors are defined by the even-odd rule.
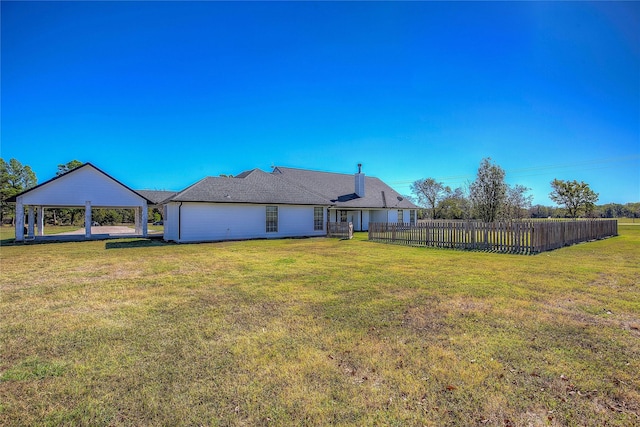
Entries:
[[84,208],[84,237],[91,238],[93,208],[134,209],[135,235],[146,237],[147,209],[162,206],[164,239],[175,242],[326,236],[328,222],[351,222],[354,230],[366,231],[371,222],[415,222],[417,210],[378,178],[366,177],[361,165],[353,175],[253,169],[167,192],[132,190],[86,163],[10,201],[16,203],[17,241],[44,234],[47,207]]

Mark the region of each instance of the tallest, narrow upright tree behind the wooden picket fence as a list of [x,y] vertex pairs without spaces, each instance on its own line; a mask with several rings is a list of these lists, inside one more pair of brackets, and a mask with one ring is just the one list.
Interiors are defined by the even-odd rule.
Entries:
[[476,180],[469,186],[469,198],[477,217],[485,222],[498,219],[506,195],[504,170],[492,163],[490,157],[482,159]]

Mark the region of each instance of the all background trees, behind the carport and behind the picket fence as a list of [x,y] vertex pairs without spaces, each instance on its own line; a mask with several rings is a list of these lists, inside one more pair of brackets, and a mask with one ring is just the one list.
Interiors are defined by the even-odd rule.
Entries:
[[[65,174],[82,162],[71,160],[58,165],[56,176]],[[5,162],[0,158],[0,222],[15,224],[15,207],[7,199],[37,185],[38,180],[31,167],[16,159]],[[597,206],[598,194],[588,184],[578,181],[554,179],[549,197],[559,207],[535,205],[529,188],[510,186],[505,182],[505,171],[491,158],[480,163],[476,179],[466,187],[452,189],[434,178],[424,178],[411,185],[415,197],[409,197],[422,207],[420,218],[430,219],[480,219],[485,222],[523,218],[640,218],[640,203],[625,205],[609,203]],[[84,209],[51,208],[44,212],[49,225],[82,225]],[[162,219],[156,208],[149,209],[150,221]],[[101,225],[134,222],[132,209],[93,209],[92,221]]]

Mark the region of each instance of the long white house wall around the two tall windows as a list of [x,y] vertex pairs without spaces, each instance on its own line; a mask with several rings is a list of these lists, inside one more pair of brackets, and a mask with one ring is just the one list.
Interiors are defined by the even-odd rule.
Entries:
[[[165,240],[201,242],[326,235],[324,227],[319,231],[313,229],[313,206],[277,205],[278,231],[267,233],[265,205],[184,202],[178,237],[178,205],[168,205]],[[325,211],[323,207],[323,223]]]

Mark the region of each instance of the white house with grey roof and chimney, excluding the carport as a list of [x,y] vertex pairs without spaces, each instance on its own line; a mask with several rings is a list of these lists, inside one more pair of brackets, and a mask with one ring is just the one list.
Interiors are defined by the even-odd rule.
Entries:
[[208,177],[164,202],[164,238],[176,242],[311,237],[327,222],[415,222],[416,210],[378,178],[275,167]]

